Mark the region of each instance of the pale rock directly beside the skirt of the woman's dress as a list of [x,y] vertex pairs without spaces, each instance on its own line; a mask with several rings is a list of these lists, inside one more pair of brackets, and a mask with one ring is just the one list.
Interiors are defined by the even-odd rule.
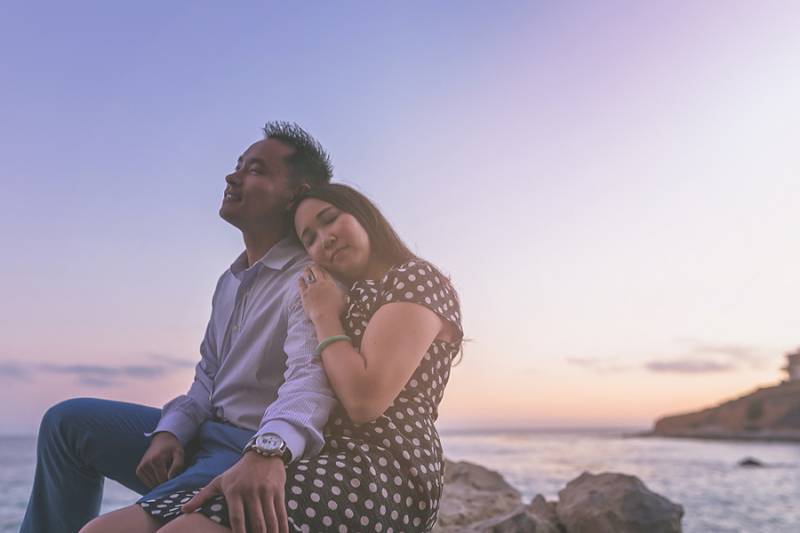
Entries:
[[445,460],[444,489],[437,533],[473,531],[474,526],[522,507],[517,489],[493,470],[466,461]]

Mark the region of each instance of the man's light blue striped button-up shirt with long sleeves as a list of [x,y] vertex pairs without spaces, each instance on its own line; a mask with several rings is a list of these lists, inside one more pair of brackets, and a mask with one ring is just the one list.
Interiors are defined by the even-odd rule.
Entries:
[[194,383],[164,405],[155,429],[186,444],[214,419],[277,433],[296,460],[319,452],[336,400],[297,279],[309,264],[287,237],[247,268],[242,253],[217,282]]

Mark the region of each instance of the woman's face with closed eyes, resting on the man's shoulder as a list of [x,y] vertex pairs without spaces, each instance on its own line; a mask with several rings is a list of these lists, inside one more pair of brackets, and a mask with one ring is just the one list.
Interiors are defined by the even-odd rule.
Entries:
[[367,277],[369,236],[353,215],[328,202],[307,198],[297,207],[294,225],[315,263],[347,281]]

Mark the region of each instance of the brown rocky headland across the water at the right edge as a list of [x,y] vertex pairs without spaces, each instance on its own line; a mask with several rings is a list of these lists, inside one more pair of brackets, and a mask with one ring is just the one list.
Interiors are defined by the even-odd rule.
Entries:
[[661,418],[652,434],[800,441],[800,381],[760,388],[715,407]]

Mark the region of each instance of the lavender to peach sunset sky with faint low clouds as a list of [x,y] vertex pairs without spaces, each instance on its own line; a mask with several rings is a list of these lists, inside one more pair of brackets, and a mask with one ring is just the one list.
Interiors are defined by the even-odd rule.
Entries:
[[800,346],[797,2],[3,2],[0,427],[191,383],[296,121],[447,272],[443,428],[626,426]]

